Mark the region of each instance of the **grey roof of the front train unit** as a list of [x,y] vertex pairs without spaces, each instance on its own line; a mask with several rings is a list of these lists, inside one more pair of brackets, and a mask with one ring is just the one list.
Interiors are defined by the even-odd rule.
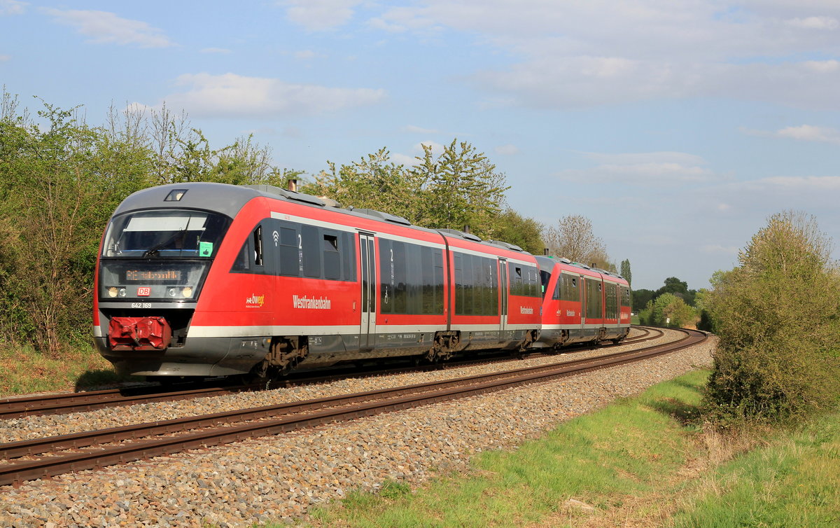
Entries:
[[306,205],[316,209],[332,210],[336,213],[348,214],[365,219],[373,219],[388,224],[402,225],[413,230],[428,233],[438,233],[450,239],[467,240],[493,246],[496,250],[515,251],[522,255],[532,256],[521,247],[501,240],[481,240],[480,237],[464,231],[452,229],[433,230],[412,224],[402,216],[385,213],[375,209],[355,209],[352,206],[343,208],[331,198],[312,196],[307,193],[288,191],[273,185],[230,185],[228,183],[213,182],[185,182],[170,183],[157,187],[149,187],[131,194],[120,203],[114,215],[128,213],[142,209],[206,209],[225,214],[234,218],[239,214],[245,203],[254,198],[279,199],[299,205]]

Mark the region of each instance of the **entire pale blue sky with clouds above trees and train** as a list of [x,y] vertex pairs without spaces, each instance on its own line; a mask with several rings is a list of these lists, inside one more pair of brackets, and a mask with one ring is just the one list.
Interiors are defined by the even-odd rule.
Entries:
[[165,102],[308,174],[467,140],[634,288],[706,287],[784,209],[840,240],[840,0],[0,0],[0,84],[91,124]]

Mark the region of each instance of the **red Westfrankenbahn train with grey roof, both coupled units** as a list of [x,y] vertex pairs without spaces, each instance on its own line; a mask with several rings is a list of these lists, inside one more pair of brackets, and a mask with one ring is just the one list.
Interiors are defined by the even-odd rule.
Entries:
[[117,372],[260,376],[392,356],[622,340],[622,277],[269,186],[183,183],[121,203],[93,332]]

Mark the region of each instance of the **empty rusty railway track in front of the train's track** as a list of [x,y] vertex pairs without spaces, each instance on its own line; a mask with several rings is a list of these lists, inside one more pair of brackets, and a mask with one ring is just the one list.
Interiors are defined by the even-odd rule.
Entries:
[[[541,383],[667,354],[706,340],[703,332],[682,331],[685,337],[679,341],[569,362],[0,444],[0,485]],[[32,460],[34,456],[38,458]]]

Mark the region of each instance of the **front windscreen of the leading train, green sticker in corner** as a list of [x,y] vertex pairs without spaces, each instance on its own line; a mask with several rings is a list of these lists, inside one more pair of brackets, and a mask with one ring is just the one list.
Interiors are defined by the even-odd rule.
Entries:
[[105,235],[102,256],[212,257],[230,220],[221,214],[165,209],[123,214]]

